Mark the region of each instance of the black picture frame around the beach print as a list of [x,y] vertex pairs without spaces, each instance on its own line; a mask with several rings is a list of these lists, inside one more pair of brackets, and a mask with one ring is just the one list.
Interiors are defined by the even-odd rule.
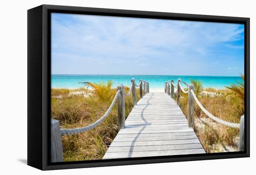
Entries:
[[[51,163],[51,12],[244,24],[245,150],[179,156]],[[41,5],[27,11],[27,164],[41,170],[249,157],[249,18]]]

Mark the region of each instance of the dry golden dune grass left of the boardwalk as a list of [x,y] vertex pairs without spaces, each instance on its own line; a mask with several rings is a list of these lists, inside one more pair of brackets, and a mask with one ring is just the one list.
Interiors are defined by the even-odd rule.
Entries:
[[[125,87],[126,93],[128,90],[129,88]],[[87,92],[89,95],[71,93],[80,91]],[[110,88],[109,99],[102,100],[88,89],[52,89],[51,117],[60,121],[61,128],[90,125],[108,110],[116,91]],[[139,99],[139,89],[136,95]],[[126,117],[132,108],[132,96],[126,97]],[[81,134],[62,136],[64,161],[102,159],[118,132],[117,121],[117,106],[115,105],[108,117],[94,129]]]

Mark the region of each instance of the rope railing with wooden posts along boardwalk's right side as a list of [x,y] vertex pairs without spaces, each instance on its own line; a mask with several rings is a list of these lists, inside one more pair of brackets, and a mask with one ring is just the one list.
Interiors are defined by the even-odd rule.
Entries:
[[[181,83],[187,85],[188,90],[185,91],[184,88],[182,88]],[[168,89],[170,88],[169,86],[171,85],[171,93],[169,93]],[[174,93],[174,88],[177,89],[177,91]],[[181,91],[185,94],[188,94],[188,126],[189,127],[193,127],[194,128],[194,100],[197,103],[197,105],[202,109],[202,111],[212,120],[216,121],[217,123],[220,123],[222,125],[226,125],[232,128],[238,128],[240,130],[239,133],[239,147],[238,150],[239,151],[243,151],[244,150],[244,115],[241,116],[240,119],[240,123],[232,123],[232,122],[228,122],[225,121],[223,119],[220,119],[216,116],[214,116],[213,114],[211,114],[209,111],[207,111],[202,104],[200,103],[200,101],[198,100],[198,98],[195,95],[194,92],[195,86],[193,84],[187,84],[184,81],[182,81],[181,79],[178,79],[178,83],[175,86],[174,85],[174,81],[171,81],[171,84],[169,83],[169,81],[165,82],[165,93],[168,93],[168,95],[171,95],[171,98],[174,99],[174,94],[176,94],[177,97],[177,105],[180,105],[180,96],[181,96]]]

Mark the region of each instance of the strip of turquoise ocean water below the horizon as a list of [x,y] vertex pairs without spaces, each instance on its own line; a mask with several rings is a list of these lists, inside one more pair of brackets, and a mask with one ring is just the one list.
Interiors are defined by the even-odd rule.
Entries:
[[164,82],[174,80],[177,82],[178,78],[189,83],[191,79],[202,81],[204,88],[225,88],[231,83],[242,81],[240,76],[185,76],[185,75],[52,75],[52,88],[82,88],[84,87],[79,82],[107,82],[112,80],[114,87],[119,83],[125,86],[130,86],[131,78],[135,78],[136,84],[139,80],[146,80],[149,82],[150,88],[164,88]]

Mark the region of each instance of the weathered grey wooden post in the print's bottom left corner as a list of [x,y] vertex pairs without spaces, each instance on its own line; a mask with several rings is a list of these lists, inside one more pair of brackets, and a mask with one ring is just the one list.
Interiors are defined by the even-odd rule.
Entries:
[[60,121],[51,119],[51,162],[63,162]]

